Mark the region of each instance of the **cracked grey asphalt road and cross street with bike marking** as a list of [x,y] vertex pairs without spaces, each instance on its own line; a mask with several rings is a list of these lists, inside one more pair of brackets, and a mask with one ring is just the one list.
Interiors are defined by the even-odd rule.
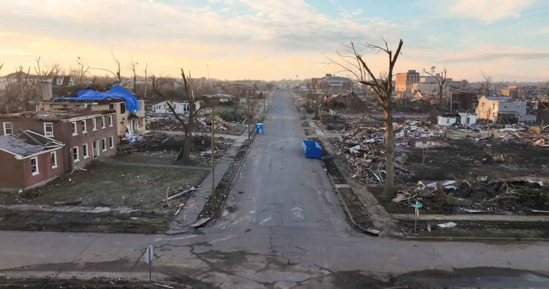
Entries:
[[290,94],[277,92],[227,214],[210,228],[173,236],[1,231],[0,274],[148,279],[143,256],[152,244],[153,278],[195,288],[365,288],[393,276],[427,286],[549,288],[531,273],[549,270],[547,243],[396,241],[350,229],[321,162],[304,157],[304,137]]

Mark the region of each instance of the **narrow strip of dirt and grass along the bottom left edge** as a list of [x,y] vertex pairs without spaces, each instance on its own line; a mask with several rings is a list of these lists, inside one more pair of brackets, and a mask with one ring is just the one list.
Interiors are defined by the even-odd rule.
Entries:
[[[192,289],[192,287],[177,284],[175,282],[157,281],[161,285],[171,286],[175,289]],[[47,285],[47,286],[46,286]],[[45,287],[44,287],[45,286]],[[128,281],[128,280],[109,280],[103,278],[93,278],[88,280],[79,279],[8,279],[0,277],[0,289],[20,289],[20,288],[89,288],[89,289],[147,289],[148,281]],[[152,288],[164,288],[153,285]]]

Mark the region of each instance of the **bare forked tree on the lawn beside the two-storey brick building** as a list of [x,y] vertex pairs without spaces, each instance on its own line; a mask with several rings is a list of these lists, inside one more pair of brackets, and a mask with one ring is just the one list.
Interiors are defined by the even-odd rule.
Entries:
[[[153,90],[153,93],[155,93],[156,95],[164,99],[164,101],[166,102],[166,105],[168,106],[168,109],[173,114],[173,117],[175,117],[176,120],[181,123],[181,126],[183,127],[183,130],[185,133],[185,137],[183,139],[183,148],[181,149],[180,154],[177,156],[177,162],[180,162],[183,164],[189,164],[191,163],[191,158],[189,156],[191,155],[191,139],[192,139],[192,133],[194,129],[194,118],[201,109],[204,109],[204,107],[208,107],[208,106],[206,105],[200,106],[200,108],[196,110],[196,105],[199,102],[199,97],[195,95],[193,91],[193,81],[191,77],[191,72],[189,72],[189,75],[187,77],[184,70],[181,69],[181,76],[183,77],[183,86],[184,86],[183,88],[185,93],[184,97],[189,103],[189,117],[187,122],[185,122],[182,116],[177,114],[175,107],[173,107],[173,104],[171,103],[171,101],[166,97],[166,93],[161,92],[159,84],[156,83],[156,78],[154,75],[151,76],[152,86],[153,86],[152,90]],[[199,93],[197,94],[200,95]],[[213,121],[214,121],[214,116],[212,116],[212,122]],[[212,148],[212,151],[213,150],[214,148]]]

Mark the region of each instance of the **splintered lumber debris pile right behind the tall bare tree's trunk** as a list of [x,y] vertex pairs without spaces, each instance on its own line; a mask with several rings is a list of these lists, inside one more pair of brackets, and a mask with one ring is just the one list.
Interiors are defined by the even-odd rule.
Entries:
[[[385,136],[383,132],[372,128],[362,129],[356,134],[343,135],[337,142],[338,155],[345,154],[349,169],[356,177],[368,183],[384,183],[385,172]],[[414,172],[404,165],[404,161],[395,161],[395,179],[402,181]]]

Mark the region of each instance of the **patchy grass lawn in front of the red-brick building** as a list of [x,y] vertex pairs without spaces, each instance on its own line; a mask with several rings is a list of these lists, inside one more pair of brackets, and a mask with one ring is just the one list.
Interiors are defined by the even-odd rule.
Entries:
[[55,202],[81,201],[88,207],[132,207],[149,210],[158,207],[170,185],[173,190],[199,185],[208,171],[113,166],[94,162],[87,171],[65,174],[40,188],[0,194],[0,203],[54,205]]

